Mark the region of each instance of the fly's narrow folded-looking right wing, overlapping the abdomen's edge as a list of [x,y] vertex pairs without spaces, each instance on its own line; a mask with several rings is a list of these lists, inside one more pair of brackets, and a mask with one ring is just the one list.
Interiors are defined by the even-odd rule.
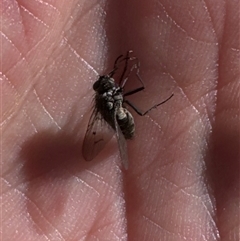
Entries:
[[127,170],[128,169],[127,141],[120,129],[120,126],[118,125],[116,111],[114,113],[114,125],[116,129],[116,136],[117,136],[118,148],[120,152],[120,158],[124,168]]

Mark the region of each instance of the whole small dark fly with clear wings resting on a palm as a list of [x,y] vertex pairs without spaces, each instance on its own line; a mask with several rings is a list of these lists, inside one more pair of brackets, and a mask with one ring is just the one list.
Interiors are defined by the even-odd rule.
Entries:
[[[83,157],[86,161],[91,161],[116,134],[118,147],[120,151],[120,158],[125,169],[128,169],[128,155],[127,155],[127,139],[132,139],[135,133],[135,123],[131,113],[125,108],[125,103],[136,111],[137,114],[144,116],[153,108],[162,105],[173,94],[163,102],[154,105],[145,112],[141,112],[130,101],[125,99],[126,96],[135,94],[145,89],[144,83],[139,75],[140,63],[136,57],[131,57],[133,51],[128,51],[126,56],[120,55],[115,63],[113,70],[107,75],[99,76],[98,80],[93,84],[95,93],[95,105],[92,115],[89,120],[88,128],[83,141]],[[129,63],[133,63],[129,69]],[[118,70],[119,64],[123,63],[124,68],[120,76],[119,84],[116,84],[113,76]],[[136,76],[141,82],[142,86],[124,92],[124,86],[129,79],[133,70],[136,70]],[[128,71],[128,73],[127,73]]]

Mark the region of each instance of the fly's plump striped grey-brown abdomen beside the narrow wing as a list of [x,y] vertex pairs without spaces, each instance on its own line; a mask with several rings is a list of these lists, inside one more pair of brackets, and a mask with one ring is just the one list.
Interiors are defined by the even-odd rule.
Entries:
[[135,133],[135,123],[131,113],[125,108],[119,109],[117,122],[125,139],[132,139]]

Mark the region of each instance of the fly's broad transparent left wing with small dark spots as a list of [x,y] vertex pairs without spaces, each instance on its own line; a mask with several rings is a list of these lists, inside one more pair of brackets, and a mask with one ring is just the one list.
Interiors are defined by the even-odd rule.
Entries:
[[94,109],[83,140],[82,154],[86,161],[91,161],[104,148],[114,134],[112,127]]

